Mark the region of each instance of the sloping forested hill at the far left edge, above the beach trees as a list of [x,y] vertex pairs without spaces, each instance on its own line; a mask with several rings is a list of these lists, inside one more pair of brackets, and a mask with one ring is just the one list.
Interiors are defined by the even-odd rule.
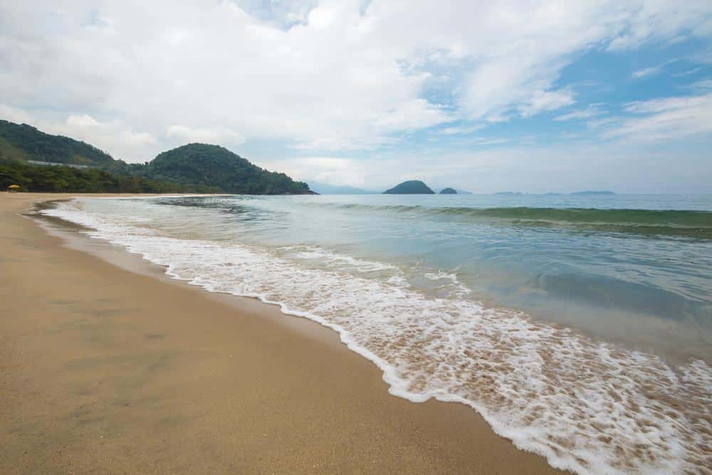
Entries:
[[0,159],[90,166],[106,166],[114,161],[111,155],[88,143],[7,120],[0,120]]

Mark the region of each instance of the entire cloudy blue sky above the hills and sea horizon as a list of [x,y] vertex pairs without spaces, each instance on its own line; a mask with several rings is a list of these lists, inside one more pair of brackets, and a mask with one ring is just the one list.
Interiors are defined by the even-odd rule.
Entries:
[[712,193],[712,1],[0,0],[0,118],[365,189]]

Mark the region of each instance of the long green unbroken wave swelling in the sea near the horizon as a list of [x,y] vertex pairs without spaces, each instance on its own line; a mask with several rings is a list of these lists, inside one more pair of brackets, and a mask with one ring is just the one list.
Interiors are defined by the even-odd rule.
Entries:
[[360,211],[479,219],[502,224],[590,229],[592,231],[661,234],[712,239],[712,212],[657,209],[535,208],[535,207],[425,207],[419,205],[371,205],[305,203]]

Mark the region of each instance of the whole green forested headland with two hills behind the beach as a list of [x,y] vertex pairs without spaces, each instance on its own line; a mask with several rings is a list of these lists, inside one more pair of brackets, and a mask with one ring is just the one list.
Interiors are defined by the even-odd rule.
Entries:
[[192,143],[143,164],[26,124],[0,120],[0,189],[85,193],[315,194],[219,145]]

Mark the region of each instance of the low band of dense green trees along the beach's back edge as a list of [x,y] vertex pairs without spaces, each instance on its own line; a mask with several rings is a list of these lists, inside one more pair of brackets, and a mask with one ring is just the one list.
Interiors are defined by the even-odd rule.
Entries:
[[11,184],[18,191],[75,193],[175,193],[192,192],[175,183],[155,182],[135,175],[115,175],[105,170],[77,169],[61,165],[30,165],[0,159],[0,189]]

